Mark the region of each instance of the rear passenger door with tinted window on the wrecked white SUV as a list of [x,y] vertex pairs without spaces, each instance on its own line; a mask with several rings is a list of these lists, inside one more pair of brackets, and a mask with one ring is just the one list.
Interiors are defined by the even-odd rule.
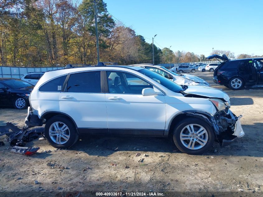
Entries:
[[81,133],[107,134],[105,93],[101,71],[70,74],[59,95],[60,110],[75,120]]

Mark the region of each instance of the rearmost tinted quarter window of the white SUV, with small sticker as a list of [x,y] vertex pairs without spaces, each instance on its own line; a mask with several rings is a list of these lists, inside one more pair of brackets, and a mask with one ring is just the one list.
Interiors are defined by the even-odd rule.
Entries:
[[51,81],[45,83],[39,88],[39,91],[42,92],[61,92],[63,83],[67,75],[52,79]]

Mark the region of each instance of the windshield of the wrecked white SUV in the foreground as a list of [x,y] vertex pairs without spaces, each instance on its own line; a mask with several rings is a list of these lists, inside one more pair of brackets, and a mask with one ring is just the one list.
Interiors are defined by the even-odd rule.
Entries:
[[157,73],[155,73],[153,71],[150,71],[148,69],[142,69],[142,70],[138,70],[138,72],[146,75],[147,77],[150,77],[154,81],[160,83],[162,86],[166,87],[167,89],[169,89],[173,92],[180,93],[180,91],[183,90],[183,88],[181,86],[179,86],[178,84],[172,82],[171,80],[169,80],[165,77],[162,77],[161,75],[158,75]]

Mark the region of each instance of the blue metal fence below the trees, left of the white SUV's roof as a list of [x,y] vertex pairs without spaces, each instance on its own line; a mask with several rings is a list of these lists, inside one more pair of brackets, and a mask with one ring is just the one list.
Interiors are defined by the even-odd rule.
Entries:
[[17,78],[20,79],[26,73],[31,72],[47,72],[48,70],[57,70],[64,67],[36,67],[36,68],[27,68],[27,67],[8,67],[0,66],[0,78]]

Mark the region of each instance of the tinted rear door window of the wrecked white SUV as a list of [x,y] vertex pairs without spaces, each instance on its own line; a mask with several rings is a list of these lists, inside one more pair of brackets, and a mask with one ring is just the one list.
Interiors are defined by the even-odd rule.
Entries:
[[67,89],[68,92],[101,93],[101,72],[92,71],[71,74]]

